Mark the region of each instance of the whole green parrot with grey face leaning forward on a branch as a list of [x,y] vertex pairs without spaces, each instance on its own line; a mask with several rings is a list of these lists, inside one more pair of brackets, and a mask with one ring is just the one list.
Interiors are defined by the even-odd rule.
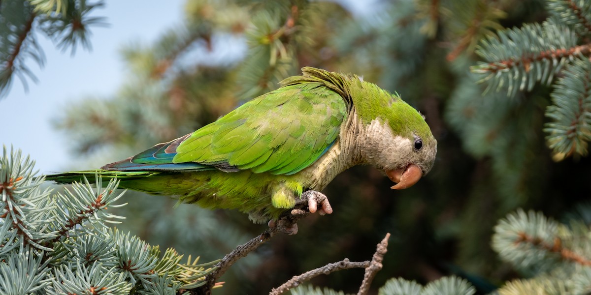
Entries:
[[392,189],[431,170],[437,141],[417,110],[358,76],[302,71],[193,133],[98,171],[46,179],[70,183],[98,172],[121,188],[264,222],[306,202],[310,212],[332,213],[319,191],[355,165],[384,170],[397,183]]

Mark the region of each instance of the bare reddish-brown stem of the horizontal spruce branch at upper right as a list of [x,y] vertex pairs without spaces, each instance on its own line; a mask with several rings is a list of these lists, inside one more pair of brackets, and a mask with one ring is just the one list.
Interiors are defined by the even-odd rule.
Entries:
[[[591,44],[584,44],[578,45],[575,47],[571,47],[570,49],[559,48],[556,50],[546,50],[542,51],[541,53],[534,54],[531,53],[529,55],[524,55],[520,58],[509,58],[508,60],[502,60],[498,62],[488,63],[486,68],[483,68],[482,71],[489,71],[492,73],[496,73],[500,70],[506,70],[509,68],[517,67],[518,65],[523,65],[525,67],[525,71],[530,70],[530,65],[534,61],[541,61],[541,60],[554,60],[557,58],[563,57],[571,57],[574,54],[581,54],[584,56],[591,55]],[[480,69],[479,69],[480,71]]]

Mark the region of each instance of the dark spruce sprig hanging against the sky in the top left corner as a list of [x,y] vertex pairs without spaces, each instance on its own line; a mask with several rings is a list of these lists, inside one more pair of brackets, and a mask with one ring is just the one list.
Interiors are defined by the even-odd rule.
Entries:
[[102,17],[91,17],[94,9],[103,5],[86,0],[8,0],[0,4],[0,99],[7,95],[14,77],[20,78],[25,90],[27,78],[37,82],[28,60],[40,67],[44,64],[43,50],[37,45],[40,32],[66,51],[82,45],[90,50],[89,28],[105,25]]

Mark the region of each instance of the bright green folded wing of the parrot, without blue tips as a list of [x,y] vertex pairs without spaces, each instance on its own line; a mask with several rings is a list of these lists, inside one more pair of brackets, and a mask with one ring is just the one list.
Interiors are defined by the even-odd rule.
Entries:
[[284,86],[193,132],[172,162],[291,175],[335,143],[347,113],[343,97],[322,83]]

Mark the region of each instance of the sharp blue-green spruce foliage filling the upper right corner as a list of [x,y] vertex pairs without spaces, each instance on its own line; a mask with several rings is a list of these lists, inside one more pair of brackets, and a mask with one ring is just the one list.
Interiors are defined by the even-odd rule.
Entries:
[[485,61],[472,71],[488,81],[488,89],[506,88],[511,97],[531,91],[536,82],[550,85],[555,76],[564,76],[554,84],[553,104],[546,112],[553,122],[545,128],[554,159],[562,160],[587,155],[591,5],[585,0],[545,2],[550,18],[483,40],[476,53]]

